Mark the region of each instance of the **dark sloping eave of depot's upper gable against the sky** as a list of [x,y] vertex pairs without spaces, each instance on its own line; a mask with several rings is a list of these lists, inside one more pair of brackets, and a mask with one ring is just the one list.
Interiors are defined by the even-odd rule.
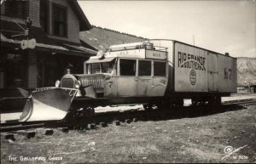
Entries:
[[90,30],[91,29],[90,22],[89,22],[89,20],[87,20],[82,8],[80,8],[79,3],[77,2],[77,0],[67,0],[67,2],[70,4],[70,7],[73,8],[73,12],[79,18],[80,31]]

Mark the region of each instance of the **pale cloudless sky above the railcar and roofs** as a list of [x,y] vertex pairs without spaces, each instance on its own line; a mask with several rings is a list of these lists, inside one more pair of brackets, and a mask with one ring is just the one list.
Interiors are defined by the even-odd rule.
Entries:
[[91,25],[256,58],[255,0],[78,2]]

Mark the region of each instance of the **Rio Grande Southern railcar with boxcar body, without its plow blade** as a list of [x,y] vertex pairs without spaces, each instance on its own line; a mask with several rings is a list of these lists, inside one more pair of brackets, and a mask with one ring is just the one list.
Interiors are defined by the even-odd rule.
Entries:
[[55,87],[76,89],[70,110],[85,116],[104,105],[216,105],[236,92],[236,58],[174,40],[113,45],[85,61],[84,74],[67,73]]

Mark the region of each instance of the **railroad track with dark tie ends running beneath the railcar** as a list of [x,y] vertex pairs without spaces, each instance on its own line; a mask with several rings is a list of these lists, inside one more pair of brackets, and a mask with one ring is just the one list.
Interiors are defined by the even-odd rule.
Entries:
[[[0,132],[3,133],[5,139],[15,139],[15,134],[26,134],[27,138],[31,138],[34,129],[41,128],[45,131],[45,135],[53,133],[52,129],[59,128],[62,132],[67,133],[68,129],[96,129],[98,127],[108,127],[109,124],[120,125],[121,123],[131,123],[137,121],[161,121],[183,117],[207,116],[224,112],[227,110],[240,110],[244,106],[256,105],[256,99],[247,99],[240,101],[228,101],[216,109],[210,106],[185,106],[168,110],[126,110],[108,111],[104,113],[96,113],[96,116],[89,122],[83,118],[77,119],[76,122],[7,122],[1,123]],[[30,129],[33,129],[32,131]],[[25,131],[24,131],[25,130]]]

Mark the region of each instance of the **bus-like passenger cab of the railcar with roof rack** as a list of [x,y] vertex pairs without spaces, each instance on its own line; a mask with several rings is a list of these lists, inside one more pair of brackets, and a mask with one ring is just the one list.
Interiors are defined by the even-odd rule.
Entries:
[[84,62],[79,81],[82,86],[92,84],[96,97],[163,96],[168,81],[166,50],[148,41],[113,45]]

